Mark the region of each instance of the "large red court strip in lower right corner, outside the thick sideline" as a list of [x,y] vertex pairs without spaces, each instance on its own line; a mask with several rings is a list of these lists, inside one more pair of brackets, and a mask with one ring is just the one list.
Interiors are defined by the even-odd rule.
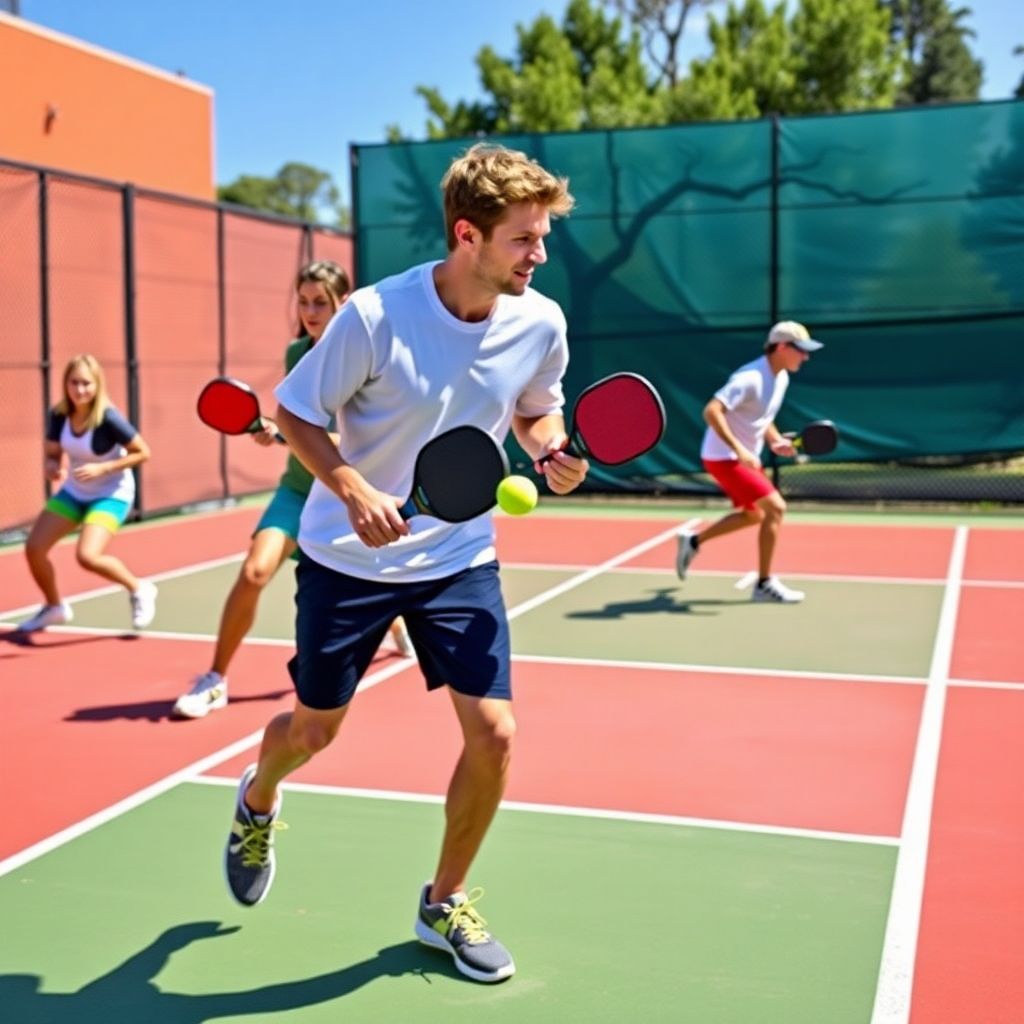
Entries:
[[1024,691],[952,687],[911,1024],[1024,1020]]

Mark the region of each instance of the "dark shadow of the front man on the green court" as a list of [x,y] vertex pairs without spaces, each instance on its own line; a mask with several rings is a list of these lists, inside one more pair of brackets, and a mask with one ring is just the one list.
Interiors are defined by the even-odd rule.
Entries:
[[[44,992],[35,974],[0,974],[0,1006],[4,1020],[40,1024],[111,1024],[144,1021],[145,1024],[205,1024],[223,1017],[272,1014],[299,1010],[349,995],[378,978],[419,975],[460,979],[445,956],[431,955],[414,941],[387,946],[357,964],[300,981],[279,982],[234,992],[202,995],[163,991],[156,981],[172,953],[193,942],[221,938],[238,932],[216,921],[197,921],[169,928],[155,942],[90,981],[76,992]],[[258,971],[253,971],[258,975]],[[340,1009],[340,1008],[339,1008]]]

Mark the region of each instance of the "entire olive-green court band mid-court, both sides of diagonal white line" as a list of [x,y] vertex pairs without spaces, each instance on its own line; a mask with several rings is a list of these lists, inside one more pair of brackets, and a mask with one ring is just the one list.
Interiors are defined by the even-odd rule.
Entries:
[[[209,635],[238,574],[231,562],[160,584],[154,630]],[[507,567],[509,608],[577,575],[573,570]],[[929,584],[801,581],[811,599],[795,606],[756,605],[731,577],[694,574],[685,585],[668,572],[606,572],[546,601],[513,623],[518,654],[608,658],[780,672],[835,672],[924,678],[942,600]],[[278,573],[261,599],[252,636],[294,636],[294,570]],[[122,593],[80,601],[76,627],[125,620]],[[552,632],[552,624],[558,629]]]

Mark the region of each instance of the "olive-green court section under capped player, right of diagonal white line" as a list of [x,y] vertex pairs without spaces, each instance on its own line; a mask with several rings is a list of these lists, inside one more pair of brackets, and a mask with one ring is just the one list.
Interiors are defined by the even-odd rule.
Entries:
[[[522,571],[522,570],[520,570]],[[531,570],[526,570],[531,571]],[[515,578],[517,571],[506,570]],[[799,605],[754,604],[729,577],[609,572],[513,624],[517,654],[858,675],[928,675],[942,587],[787,583]],[[557,641],[552,623],[558,624]]]

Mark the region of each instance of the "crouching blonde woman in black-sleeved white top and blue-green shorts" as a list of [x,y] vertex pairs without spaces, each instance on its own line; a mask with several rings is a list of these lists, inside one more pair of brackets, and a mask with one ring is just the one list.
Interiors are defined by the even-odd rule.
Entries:
[[128,591],[132,626],[142,629],[156,614],[157,588],[108,554],[106,545],[131,511],[132,469],[150,458],[150,446],[111,404],[95,356],[70,359],[61,390],[62,397],[50,411],[45,442],[46,478],[61,486],[39,514],[25,545],[32,578],[46,603],[18,630],[34,633],[74,617],[71,605],[60,598],[50,549],[79,527],[79,564]]

